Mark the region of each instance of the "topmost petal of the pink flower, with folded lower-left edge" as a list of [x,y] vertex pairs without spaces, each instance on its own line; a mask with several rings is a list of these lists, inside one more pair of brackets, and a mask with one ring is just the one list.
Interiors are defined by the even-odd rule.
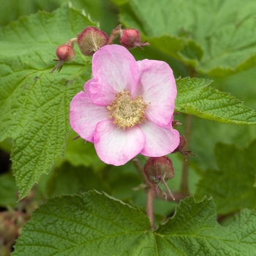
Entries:
[[129,50],[121,45],[105,45],[94,53],[92,74],[94,80],[86,86],[91,102],[108,105],[119,91],[135,92],[140,69]]

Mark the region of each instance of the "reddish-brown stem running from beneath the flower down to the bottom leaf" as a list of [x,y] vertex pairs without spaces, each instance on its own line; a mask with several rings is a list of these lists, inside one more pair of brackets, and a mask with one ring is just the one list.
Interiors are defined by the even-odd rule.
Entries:
[[144,184],[146,185],[146,215],[151,223],[151,229],[154,230],[154,186],[148,181],[146,174],[143,171],[143,166],[140,164],[140,161],[137,158],[132,159],[133,165],[138,170],[141,178],[143,179]]

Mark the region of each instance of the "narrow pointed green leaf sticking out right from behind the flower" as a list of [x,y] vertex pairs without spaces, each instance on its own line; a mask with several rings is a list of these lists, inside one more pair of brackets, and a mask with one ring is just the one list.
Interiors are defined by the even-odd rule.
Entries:
[[230,94],[211,88],[211,80],[182,78],[176,83],[176,111],[225,124],[256,124],[254,110]]

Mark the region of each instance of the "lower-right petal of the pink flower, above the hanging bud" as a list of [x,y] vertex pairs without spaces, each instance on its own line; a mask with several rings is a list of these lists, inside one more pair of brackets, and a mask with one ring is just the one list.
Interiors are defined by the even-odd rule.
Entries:
[[146,136],[146,143],[140,154],[146,157],[162,157],[170,154],[179,144],[179,133],[171,123],[166,127],[158,127],[151,121],[139,125]]

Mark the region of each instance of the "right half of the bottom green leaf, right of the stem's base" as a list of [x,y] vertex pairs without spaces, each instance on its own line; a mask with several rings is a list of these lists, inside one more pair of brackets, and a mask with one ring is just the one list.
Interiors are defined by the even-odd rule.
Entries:
[[212,200],[186,198],[156,231],[158,255],[255,255],[255,211],[242,211],[227,227],[216,219]]

